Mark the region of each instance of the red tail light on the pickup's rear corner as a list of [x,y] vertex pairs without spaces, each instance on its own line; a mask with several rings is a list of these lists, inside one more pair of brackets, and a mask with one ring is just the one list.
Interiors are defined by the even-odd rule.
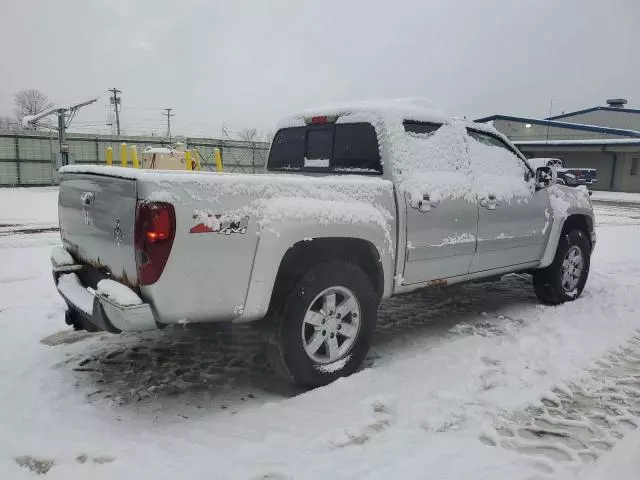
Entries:
[[140,202],[136,209],[135,250],[138,282],[151,285],[162,275],[176,234],[173,205]]

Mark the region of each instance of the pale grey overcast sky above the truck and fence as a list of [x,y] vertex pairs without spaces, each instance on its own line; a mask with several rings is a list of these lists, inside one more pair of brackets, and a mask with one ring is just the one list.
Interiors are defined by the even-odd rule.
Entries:
[[640,108],[640,0],[0,0],[0,115],[100,95],[75,128],[219,136],[326,103],[424,96],[468,118]]

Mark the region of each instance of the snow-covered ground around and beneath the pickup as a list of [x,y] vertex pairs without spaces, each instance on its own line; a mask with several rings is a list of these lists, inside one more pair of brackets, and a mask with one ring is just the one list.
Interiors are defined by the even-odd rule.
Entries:
[[[0,224],[55,201],[0,190]],[[365,368],[306,393],[250,326],[69,331],[57,234],[0,234],[0,478],[637,478],[640,203],[596,214],[578,301],[524,275],[391,299]]]

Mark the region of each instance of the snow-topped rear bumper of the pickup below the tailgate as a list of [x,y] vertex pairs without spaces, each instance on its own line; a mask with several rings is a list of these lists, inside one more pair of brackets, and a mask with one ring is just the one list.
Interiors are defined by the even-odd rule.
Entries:
[[[158,328],[151,306],[142,302],[142,299],[137,305],[121,305],[105,295],[87,289],[76,273],[83,266],[76,264],[63,248],[55,247],[52,250],[51,265],[58,293],[69,308],[98,329],[120,333]],[[137,297],[133,290],[130,292]]]

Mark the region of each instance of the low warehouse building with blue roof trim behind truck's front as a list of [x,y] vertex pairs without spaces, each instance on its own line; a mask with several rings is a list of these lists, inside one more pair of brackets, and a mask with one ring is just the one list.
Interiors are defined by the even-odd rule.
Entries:
[[640,109],[625,99],[536,119],[492,115],[492,122],[527,157],[556,157],[570,168],[596,168],[595,190],[640,192]]

